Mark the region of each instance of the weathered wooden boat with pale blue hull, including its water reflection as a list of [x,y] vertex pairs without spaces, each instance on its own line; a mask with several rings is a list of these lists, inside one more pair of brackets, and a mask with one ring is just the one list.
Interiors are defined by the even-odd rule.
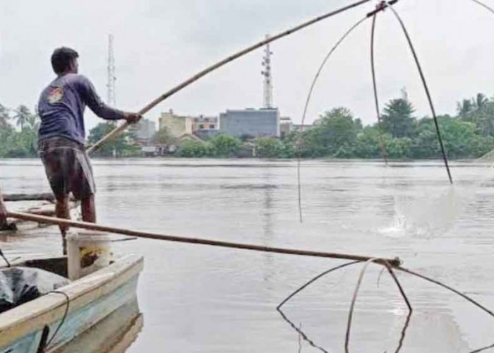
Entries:
[[[65,257],[12,265],[67,275]],[[0,353],[124,352],[143,325],[135,294],[141,270],[142,256],[123,256],[56,292],[0,313]]]

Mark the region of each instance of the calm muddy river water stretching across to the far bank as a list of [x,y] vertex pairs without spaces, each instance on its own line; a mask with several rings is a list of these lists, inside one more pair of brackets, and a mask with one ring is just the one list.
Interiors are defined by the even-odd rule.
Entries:
[[[494,172],[440,162],[316,160],[95,160],[104,225],[224,241],[399,256],[404,266],[494,309]],[[49,191],[38,160],[0,160],[6,193]],[[11,206],[13,207],[13,206]],[[53,228],[3,237],[7,256],[59,253]],[[144,328],[128,352],[320,352],[276,306],[344,261],[217,249],[155,240],[114,243],[145,256],[139,287]],[[327,352],[344,352],[351,296],[362,265],[321,278],[284,306]],[[356,302],[350,352],[472,352],[494,344],[494,318],[454,294],[398,273],[414,313],[387,273],[370,265]],[[399,342],[402,345],[399,347]],[[483,352],[494,352],[486,349]]]

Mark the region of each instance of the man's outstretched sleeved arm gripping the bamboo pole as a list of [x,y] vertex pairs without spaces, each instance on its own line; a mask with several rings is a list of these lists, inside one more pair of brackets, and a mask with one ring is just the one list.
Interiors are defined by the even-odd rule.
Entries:
[[105,104],[100,96],[97,94],[95,87],[92,85],[91,81],[85,76],[78,76],[78,81],[76,82],[76,89],[80,92],[85,104],[90,107],[92,112],[102,119],[106,120],[120,120],[125,119],[128,123],[135,123],[141,116],[138,113],[128,113],[122,112],[119,109],[114,109],[109,105]]

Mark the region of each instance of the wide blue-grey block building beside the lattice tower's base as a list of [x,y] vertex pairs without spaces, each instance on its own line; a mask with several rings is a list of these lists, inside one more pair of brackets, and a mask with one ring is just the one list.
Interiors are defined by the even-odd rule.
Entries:
[[278,109],[239,109],[219,114],[219,131],[229,136],[278,137]]

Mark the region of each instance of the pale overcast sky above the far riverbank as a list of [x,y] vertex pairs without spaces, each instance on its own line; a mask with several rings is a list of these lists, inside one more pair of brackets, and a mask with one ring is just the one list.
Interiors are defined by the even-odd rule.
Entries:
[[[494,0],[483,0],[494,6]],[[79,70],[107,96],[108,35],[114,36],[116,107],[138,111],[162,93],[234,52],[354,0],[0,0],[0,104],[34,108],[54,78],[53,49],[80,54]],[[273,101],[300,123],[318,66],[351,25],[378,1],[354,8],[272,43]],[[494,95],[494,14],[472,0],[400,0],[402,16],[421,61],[438,114],[456,102]],[[376,121],[370,75],[370,25],[345,40],[321,73],[306,121],[348,107],[364,124]],[[145,115],[157,121],[173,109],[218,115],[263,104],[263,51],[200,79]],[[430,115],[420,76],[392,11],[380,13],[375,65],[381,105],[406,88],[416,116]],[[87,129],[100,120],[86,112]]]

